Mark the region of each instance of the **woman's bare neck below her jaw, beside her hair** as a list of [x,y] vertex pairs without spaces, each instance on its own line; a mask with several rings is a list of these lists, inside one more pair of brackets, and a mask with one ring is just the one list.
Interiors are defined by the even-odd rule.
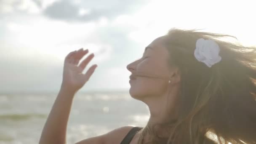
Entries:
[[151,131],[155,131],[157,136],[168,138],[171,127],[167,125],[173,123],[177,117],[178,95],[178,91],[170,91],[161,96],[152,96],[145,101],[149,107],[150,117],[144,139],[149,140],[152,137]]

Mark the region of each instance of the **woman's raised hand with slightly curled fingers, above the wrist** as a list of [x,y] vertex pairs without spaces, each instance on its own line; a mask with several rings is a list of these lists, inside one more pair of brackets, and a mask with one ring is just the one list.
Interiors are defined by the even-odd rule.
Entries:
[[82,72],[87,64],[93,59],[94,54],[91,53],[78,65],[79,61],[87,53],[88,49],[83,50],[83,48],[81,48],[78,51],[70,52],[65,57],[61,89],[75,93],[90,79],[97,64],[93,64],[85,74]]

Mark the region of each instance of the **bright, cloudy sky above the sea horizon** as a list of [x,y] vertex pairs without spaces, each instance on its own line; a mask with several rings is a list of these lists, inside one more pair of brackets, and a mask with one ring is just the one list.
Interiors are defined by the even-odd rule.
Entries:
[[80,91],[128,91],[127,64],[169,29],[256,45],[255,13],[253,0],[0,0],[0,93],[59,91],[64,58],[80,48],[98,64]]

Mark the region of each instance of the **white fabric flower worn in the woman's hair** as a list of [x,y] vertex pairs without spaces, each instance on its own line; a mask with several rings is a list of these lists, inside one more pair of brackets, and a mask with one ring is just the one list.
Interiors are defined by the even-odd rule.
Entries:
[[204,40],[200,38],[197,40],[194,55],[198,61],[211,67],[213,64],[221,61],[219,51],[219,45],[214,40]]

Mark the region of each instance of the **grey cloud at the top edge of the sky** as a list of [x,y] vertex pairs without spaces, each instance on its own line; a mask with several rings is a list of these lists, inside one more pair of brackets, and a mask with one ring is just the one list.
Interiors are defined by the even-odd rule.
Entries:
[[[61,0],[44,10],[44,14],[53,19],[64,21],[94,21],[101,17],[113,19],[123,13],[133,13],[148,0]],[[82,14],[81,14],[82,13]]]

